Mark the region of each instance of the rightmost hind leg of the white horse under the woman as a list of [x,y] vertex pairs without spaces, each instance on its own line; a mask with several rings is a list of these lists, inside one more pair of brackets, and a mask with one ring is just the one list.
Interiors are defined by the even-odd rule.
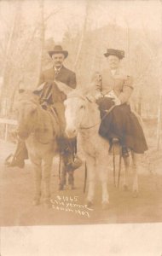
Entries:
[[133,167],[133,196],[136,197],[138,194],[138,165],[139,165],[139,158],[140,154],[136,154],[131,152],[132,156],[132,167]]

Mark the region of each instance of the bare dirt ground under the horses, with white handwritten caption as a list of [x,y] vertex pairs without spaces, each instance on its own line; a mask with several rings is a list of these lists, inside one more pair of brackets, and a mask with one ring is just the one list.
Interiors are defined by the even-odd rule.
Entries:
[[[1,226],[13,225],[52,225],[52,224],[122,224],[162,222],[162,150],[153,148],[142,157],[139,173],[139,195],[132,197],[130,186],[127,192],[122,189],[121,172],[119,189],[113,186],[113,166],[109,170],[108,191],[110,206],[101,208],[101,185],[96,183],[95,204],[91,209],[84,207],[84,168],[75,172],[74,190],[58,191],[58,160],[55,160],[51,177],[53,204],[51,207],[32,206],[32,166],[7,168],[3,165],[5,157],[14,150],[15,145],[0,141],[0,220]],[[112,160],[113,162],[113,160]],[[73,203],[66,212],[67,203]]]

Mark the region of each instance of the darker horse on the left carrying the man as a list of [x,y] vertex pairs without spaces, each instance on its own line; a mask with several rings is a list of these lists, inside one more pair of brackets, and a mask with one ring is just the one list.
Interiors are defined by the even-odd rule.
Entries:
[[49,204],[50,172],[53,157],[57,151],[55,137],[59,131],[57,122],[49,111],[43,110],[40,106],[38,96],[29,90],[20,93],[17,110],[17,134],[26,143],[34,171],[33,204],[40,203],[41,195],[43,195],[45,204]]

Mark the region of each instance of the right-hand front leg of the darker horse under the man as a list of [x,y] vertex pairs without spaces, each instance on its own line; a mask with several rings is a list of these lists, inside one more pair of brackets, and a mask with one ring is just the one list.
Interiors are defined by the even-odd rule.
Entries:
[[50,175],[53,163],[53,155],[49,154],[43,158],[43,201],[49,204],[50,200]]

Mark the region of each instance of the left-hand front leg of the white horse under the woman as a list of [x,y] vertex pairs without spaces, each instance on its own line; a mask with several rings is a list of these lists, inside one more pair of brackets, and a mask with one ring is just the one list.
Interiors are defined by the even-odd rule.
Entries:
[[90,155],[87,155],[86,163],[88,177],[87,206],[90,207],[93,204],[95,195],[95,158],[91,157]]

